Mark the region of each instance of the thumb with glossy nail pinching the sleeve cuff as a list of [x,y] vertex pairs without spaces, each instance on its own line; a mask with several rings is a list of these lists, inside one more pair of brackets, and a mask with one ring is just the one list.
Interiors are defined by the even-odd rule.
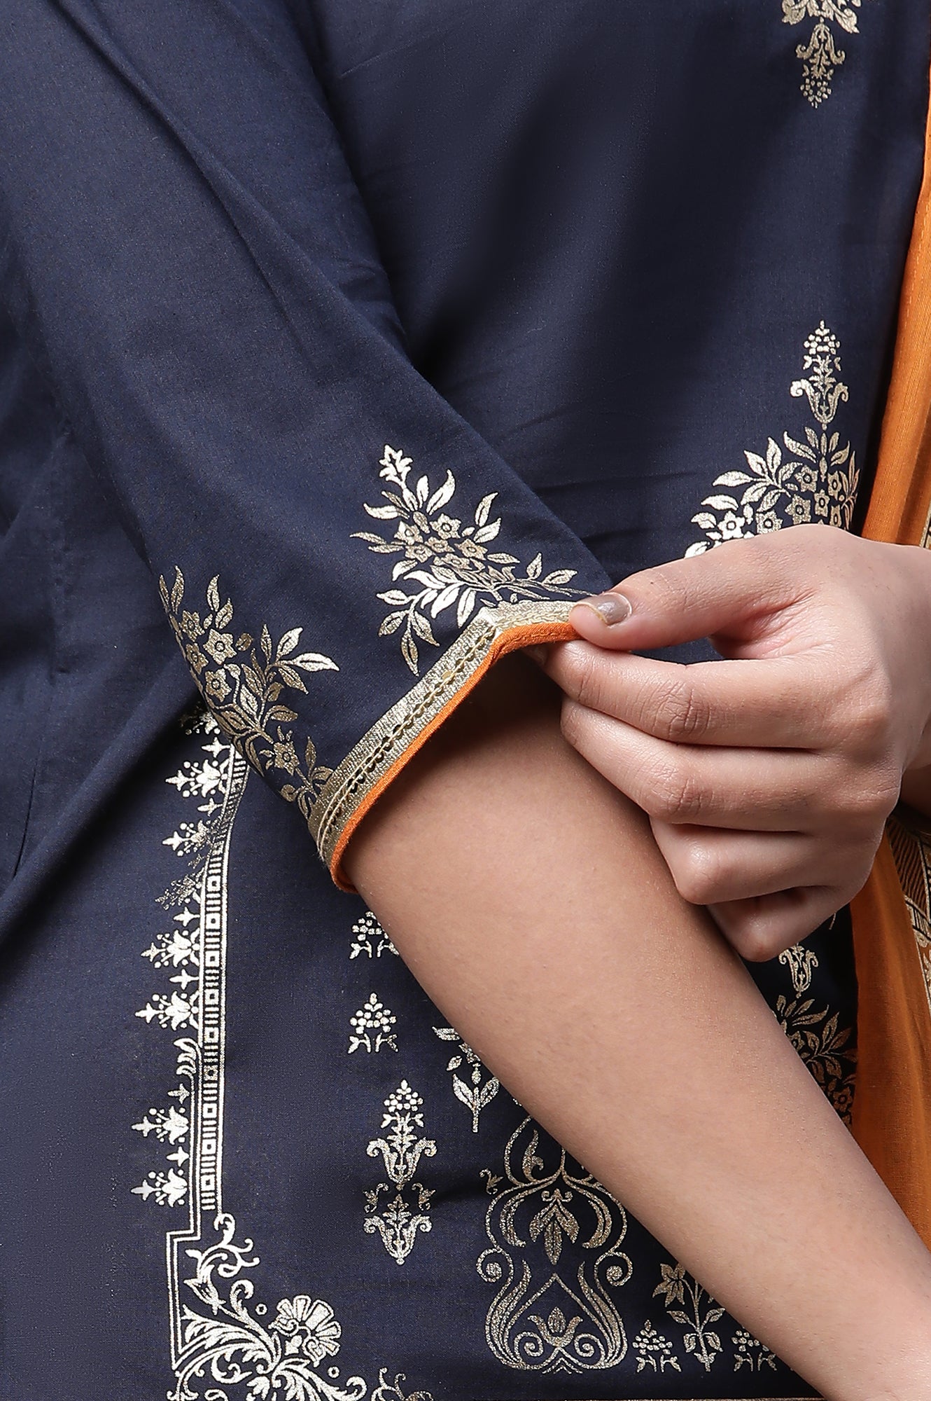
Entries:
[[770,537],[731,541],[690,559],[630,574],[606,594],[575,604],[573,628],[599,647],[643,651],[713,633],[759,636],[799,584]]

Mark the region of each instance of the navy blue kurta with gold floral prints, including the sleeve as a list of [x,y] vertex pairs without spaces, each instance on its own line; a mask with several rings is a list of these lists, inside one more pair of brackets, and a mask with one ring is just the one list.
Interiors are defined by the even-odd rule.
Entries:
[[[326,866],[517,629],[857,527],[930,31],[917,0],[0,17],[4,1395],[806,1393]],[[848,1115],[848,922],[757,979]]]

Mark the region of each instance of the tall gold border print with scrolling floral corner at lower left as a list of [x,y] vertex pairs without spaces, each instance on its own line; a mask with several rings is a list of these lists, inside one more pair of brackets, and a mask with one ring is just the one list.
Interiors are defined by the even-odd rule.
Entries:
[[211,715],[188,723],[185,734],[199,757],[167,782],[199,817],[179,822],[162,843],[185,864],[158,901],[162,927],[143,957],[169,991],[154,992],[139,1013],[172,1035],[178,1083],[167,1108],[148,1108],[133,1125],[146,1143],[161,1145],[164,1166],[132,1191],[172,1222],[158,1252],[168,1262],[174,1386],[160,1394],[168,1401],[433,1401],[427,1391],[407,1394],[403,1373],[392,1380],[386,1367],[371,1394],[361,1376],[342,1377],[335,1359],[343,1330],[325,1299],[281,1297],[269,1318],[255,1297],[259,1254],[223,1205],[228,863],[249,769]]

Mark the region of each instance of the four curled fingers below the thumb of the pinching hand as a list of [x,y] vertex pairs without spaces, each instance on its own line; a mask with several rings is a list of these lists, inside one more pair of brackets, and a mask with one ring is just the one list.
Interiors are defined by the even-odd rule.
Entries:
[[563,731],[648,814],[679,894],[755,961],[857,894],[895,803],[872,766],[837,754],[678,744],[568,699]]

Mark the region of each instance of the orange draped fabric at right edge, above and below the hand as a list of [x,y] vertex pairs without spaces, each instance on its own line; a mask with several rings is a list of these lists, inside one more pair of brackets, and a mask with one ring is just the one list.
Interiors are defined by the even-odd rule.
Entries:
[[[864,535],[900,545],[927,544],[930,511],[931,108]],[[853,1129],[931,1247],[931,1013],[916,934],[885,838],[851,913],[860,1003]]]

